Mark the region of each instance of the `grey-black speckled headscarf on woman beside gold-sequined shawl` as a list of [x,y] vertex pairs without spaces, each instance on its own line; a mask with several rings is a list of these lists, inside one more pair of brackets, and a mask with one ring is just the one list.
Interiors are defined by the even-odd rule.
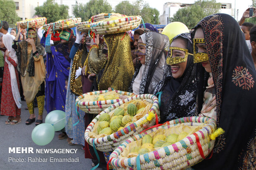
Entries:
[[[140,94],[153,93],[157,83],[164,75],[164,63],[168,55],[169,38],[166,35],[147,32],[145,68],[140,81]],[[139,73],[141,64],[135,66],[135,73],[129,91],[133,91],[133,82]]]

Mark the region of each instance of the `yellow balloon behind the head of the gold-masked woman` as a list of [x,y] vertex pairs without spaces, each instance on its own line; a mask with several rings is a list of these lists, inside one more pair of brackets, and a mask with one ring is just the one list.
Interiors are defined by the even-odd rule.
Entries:
[[167,35],[169,37],[169,40],[171,41],[171,39],[173,39],[173,37],[175,37],[176,35],[189,32],[190,30],[184,23],[172,22],[164,27],[162,34]]

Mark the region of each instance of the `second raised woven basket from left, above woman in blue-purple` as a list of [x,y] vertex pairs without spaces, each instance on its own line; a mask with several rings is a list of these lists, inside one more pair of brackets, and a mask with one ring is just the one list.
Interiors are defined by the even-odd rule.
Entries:
[[76,27],[80,22],[81,18],[62,19],[54,23],[45,24],[43,29],[47,31],[50,26],[53,26],[53,31],[65,30]]

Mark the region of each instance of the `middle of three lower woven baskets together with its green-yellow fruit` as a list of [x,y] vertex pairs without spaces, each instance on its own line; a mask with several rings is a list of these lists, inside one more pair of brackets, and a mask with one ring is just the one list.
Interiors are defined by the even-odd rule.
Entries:
[[100,151],[113,151],[132,135],[140,133],[143,124],[154,125],[159,116],[154,95],[135,95],[108,107],[92,120],[85,130],[85,141]]

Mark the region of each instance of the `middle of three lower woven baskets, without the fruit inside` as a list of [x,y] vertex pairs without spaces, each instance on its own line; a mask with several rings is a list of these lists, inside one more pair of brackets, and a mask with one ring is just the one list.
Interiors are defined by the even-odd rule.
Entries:
[[[103,115],[103,114],[110,115],[111,113],[115,112],[115,110],[120,109],[120,107],[122,107],[122,105],[127,105],[127,103],[129,103],[129,102],[130,103],[133,103],[136,101],[143,102],[144,100],[151,104],[147,105],[145,108],[143,108],[144,110],[142,112],[144,114],[141,114],[140,117],[138,117],[138,120],[136,119],[137,121],[130,123],[130,125],[128,123],[128,125],[126,127],[122,128],[121,130],[118,130],[115,133],[110,133],[111,135],[105,135],[104,137],[90,137],[91,134],[97,130],[98,125],[99,125],[98,121],[100,121],[99,118],[101,115]],[[128,104],[128,105],[130,105],[130,104]],[[138,112],[139,112],[139,110],[138,110]],[[135,116],[138,116],[138,112],[136,113]],[[144,130],[143,124],[154,125],[156,122],[156,115],[159,116],[159,106],[158,106],[158,98],[155,95],[143,94],[143,95],[135,95],[130,98],[126,98],[125,100],[117,102],[114,105],[112,105],[111,107],[108,107],[103,112],[101,112],[99,115],[97,115],[95,117],[95,119],[92,120],[92,122],[89,124],[89,126],[85,130],[85,141],[88,142],[88,144],[90,144],[92,146],[95,145],[95,148],[99,151],[104,151],[104,152],[114,151],[114,149],[116,149],[116,147],[118,147],[119,144],[121,144],[124,140],[126,140],[130,136],[138,134],[142,130]],[[113,118],[113,116],[111,117],[111,119],[112,118]],[[113,119],[113,121],[115,121],[117,119],[119,119],[119,118],[115,118],[115,119]],[[112,120],[110,120],[110,128],[111,128],[111,121]],[[122,122],[123,122],[123,120],[122,120]]]

